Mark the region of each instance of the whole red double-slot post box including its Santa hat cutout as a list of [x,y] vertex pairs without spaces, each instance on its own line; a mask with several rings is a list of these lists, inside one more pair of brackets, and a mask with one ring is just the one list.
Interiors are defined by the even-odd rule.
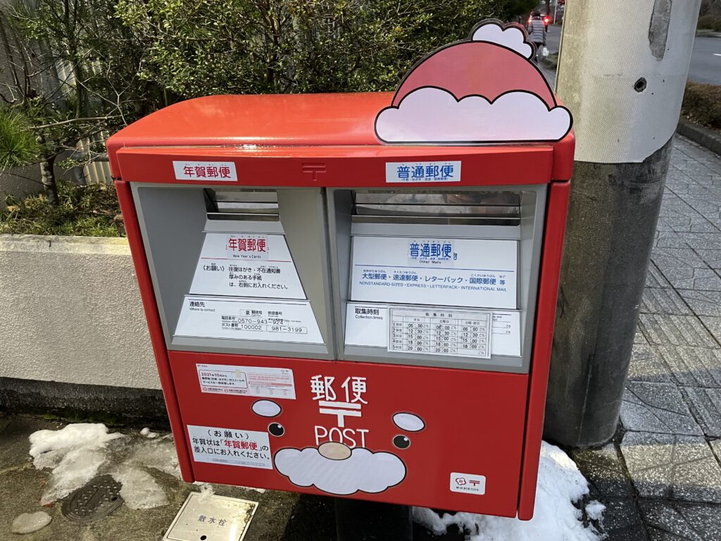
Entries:
[[531,55],[110,138],[185,480],[531,518],[573,154]]

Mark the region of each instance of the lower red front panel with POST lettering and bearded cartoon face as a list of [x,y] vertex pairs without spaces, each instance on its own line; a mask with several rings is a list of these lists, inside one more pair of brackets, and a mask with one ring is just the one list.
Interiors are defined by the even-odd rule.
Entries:
[[[516,515],[528,390],[525,374],[180,351],[170,351],[169,359],[196,480]],[[276,384],[266,387],[265,396],[259,396],[262,392],[257,390],[253,391],[255,396],[211,392],[212,384],[205,377],[200,382],[198,365],[208,371],[242,371],[248,374],[247,389],[254,387],[250,382],[252,371],[272,369],[275,372],[258,377]],[[290,379],[287,372],[280,374],[281,369],[292,371]],[[332,378],[329,384],[335,392],[334,400],[322,400],[328,397],[317,394],[318,385],[314,381],[324,383],[329,381],[326,378]],[[293,382],[292,393],[288,392],[289,381]],[[347,381],[352,407],[344,404],[343,384]],[[360,382],[361,387],[354,387],[353,382]],[[286,391],[280,397],[278,393],[283,389]],[[359,400],[353,402],[354,391],[358,389],[364,390],[359,392]],[[275,397],[267,396],[271,392],[276,393]],[[259,400],[278,404],[280,413],[273,417],[257,415],[252,408]],[[343,409],[358,415],[344,416],[338,423],[337,412]],[[397,419],[401,425],[398,426],[394,423],[397,414],[417,415],[423,428],[406,430],[418,426],[405,424],[402,418]],[[282,436],[274,436],[270,431],[273,423],[283,426]],[[367,449],[361,449],[361,454],[365,454],[363,464],[361,457],[355,455],[347,463],[345,459],[320,459],[316,449],[328,441],[326,431],[332,428],[335,441],[343,438],[346,444],[355,441],[356,448]],[[213,437],[216,429],[223,435]],[[226,438],[226,429],[237,431],[239,437],[234,434]],[[211,433],[207,437],[200,435],[208,430]],[[397,436],[406,437],[410,445],[404,449],[397,447],[394,444]],[[205,446],[201,439],[206,440]],[[219,442],[210,446],[212,452],[208,452],[207,439]],[[226,439],[230,444],[226,444]],[[233,441],[238,442],[235,447]],[[267,441],[270,453],[252,458],[255,466],[239,465],[242,459],[234,455],[216,454],[217,449],[226,453],[229,449],[231,452],[247,449],[249,446],[243,441],[254,441],[260,447]],[[311,465],[304,465],[305,458],[293,456],[298,452],[292,449],[312,455],[308,461],[317,468],[317,478],[303,475]],[[281,451],[290,453],[296,462],[278,466]],[[360,469],[355,467],[356,461]],[[327,475],[325,467],[329,468]],[[284,469],[288,475],[280,471]],[[386,482],[391,486],[384,488]]]

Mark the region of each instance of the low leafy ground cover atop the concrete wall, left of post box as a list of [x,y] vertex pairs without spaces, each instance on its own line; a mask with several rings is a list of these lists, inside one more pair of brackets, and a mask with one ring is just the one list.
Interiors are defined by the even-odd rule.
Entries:
[[125,237],[118,195],[112,186],[78,186],[58,180],[58,205],[45,194],[8,195],[0,210],[0,233]]

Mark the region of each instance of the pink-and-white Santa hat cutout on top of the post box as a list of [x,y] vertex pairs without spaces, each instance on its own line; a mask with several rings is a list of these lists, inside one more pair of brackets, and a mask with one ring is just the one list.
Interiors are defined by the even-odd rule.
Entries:
[[384,143],[488,144],[559,141],[571,129],[521,25],[479,23],[469,40],[417,63],[376,116]]

